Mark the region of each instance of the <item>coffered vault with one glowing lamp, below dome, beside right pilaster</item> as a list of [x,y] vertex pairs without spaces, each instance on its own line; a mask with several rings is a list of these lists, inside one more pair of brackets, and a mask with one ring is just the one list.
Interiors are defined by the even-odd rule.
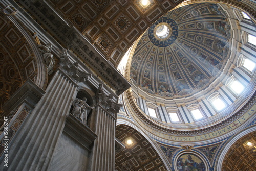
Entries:
[[115,153],[115,169],[117,171],[167,171],[155,148],[136,129],[118,125],[116,138],[125,145],[124,149]]

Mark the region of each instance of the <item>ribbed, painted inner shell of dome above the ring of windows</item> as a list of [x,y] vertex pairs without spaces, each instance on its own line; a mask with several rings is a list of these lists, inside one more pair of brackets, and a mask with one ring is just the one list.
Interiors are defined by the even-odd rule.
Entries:
[[226,15],[219,5],[202,3],[159,18],[137,44],[130,72],[134,84],[165,99],[205,89],[221,74],[230,54]]

